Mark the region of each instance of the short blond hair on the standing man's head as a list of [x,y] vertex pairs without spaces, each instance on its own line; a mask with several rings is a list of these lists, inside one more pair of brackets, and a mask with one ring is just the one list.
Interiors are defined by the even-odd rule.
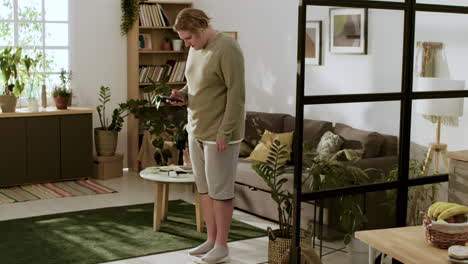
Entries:
[[184,8],[177,14],[174,30],[200,32],[210,25],[210,18],[200,9]]

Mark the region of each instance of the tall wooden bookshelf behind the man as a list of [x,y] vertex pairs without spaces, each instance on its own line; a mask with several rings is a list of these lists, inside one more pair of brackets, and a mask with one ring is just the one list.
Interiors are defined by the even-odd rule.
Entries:
[[[172,30],[172,25],[180,10],[191,6],[191,2],[140,2],[140,19],[135,22],[135,25],[127,35],[128,99],[141,99],[142,88],[150,85],[149,82],[140,82],[143,79],[140,75],[142,67],[163,65],[169,60],[183,61],[187,59],[187,49],[183,49],[182,51],[166,51],[162,49],[162,45],[166,38],[171,40],[178,39],[177,33]],[[159,12],[158,8],[163,10],[164,18],[161,18],[161,12]],[[140,34],[145,34],[150,38],[151,49],[140,49]],[[152,76],[156,77],[157,75],[157,72],[153,72]],[[185,81],[175,80],[170,81],[168,84],[176,89],[180,89],[185,85]],[[133,171],[138,171],[139,163],[137,157],[140,149],[139,138],[142,133],[138,119],[129,116],[127,130],[128,167]]]

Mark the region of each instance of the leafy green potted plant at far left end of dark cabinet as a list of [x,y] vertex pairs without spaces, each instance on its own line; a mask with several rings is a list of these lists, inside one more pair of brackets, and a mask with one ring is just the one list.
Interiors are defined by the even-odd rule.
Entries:
[[22,58],[22,48],[4,48],[0,52],[0,71],[4,82],[4,91],[0,95],[2,112],[15,112],[17,97],[24,90],[24,76],[19,73]]

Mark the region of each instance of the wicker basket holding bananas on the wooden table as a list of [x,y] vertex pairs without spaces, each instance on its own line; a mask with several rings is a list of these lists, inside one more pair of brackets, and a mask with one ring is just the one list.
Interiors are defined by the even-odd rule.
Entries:
[[[453,245],[465,245],[468,241],[468,223],[466,224],[445,224],[433,222],[425,213],[423,225],[426,230],[426,240],[431,245],[438,248],[449,248]],[[439,230],[437,230],[439,229]],[[445,230],[441,231],[440,229]]]

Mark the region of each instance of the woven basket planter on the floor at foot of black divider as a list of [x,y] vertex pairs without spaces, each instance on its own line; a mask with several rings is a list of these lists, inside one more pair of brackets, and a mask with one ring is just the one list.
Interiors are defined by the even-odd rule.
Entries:
[[[276,239],[269,239],[268,241],[268,264],[281,264],[284,255],[289,251],[291,247],[291,239],[278,237],[279,230],[273,230],[273,234],[276,236]],[[301,247],[311,247],[312,236],[310,232],[301,230],[300,234]]]

